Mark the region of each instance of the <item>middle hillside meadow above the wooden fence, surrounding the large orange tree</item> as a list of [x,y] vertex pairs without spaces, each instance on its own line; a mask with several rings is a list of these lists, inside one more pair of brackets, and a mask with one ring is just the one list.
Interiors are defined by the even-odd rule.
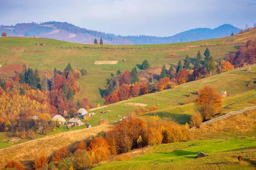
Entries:
[[[186,122],[189,123],[191,115],[195,113],[195,103],[193,103],[197,96],[195,94],[195,89],[200,90],[204,85],[213,85],[219,93],[221,91],[227,91],[228,94],[231,93],[231,96],[223,98],[223,113],[238,111],[246,107],[254,106],[256,105],[256,85],[248,87],[247,83],[256,80],[256,65],[252,65],[251,68],[251,71],[246,71],[246,68],[240,68],[223,74],[214,75],[211,78],[177,85],[174,89],[117,102],[109,105],[108,108],[105,108],[104,111],[107,111],[107,113],[104,115],[108,115],[109,122],[116,122],[120,119],[117,115],[122,114],[122,117],[126,116],[127,114],[132,113],[134,108],[139,107],[127,105],[127,103],[142,103],[147,105],[145,108],[159,104],[159,110],[145,113],[139,117],[147,120],[150,116],[156,114],[160,117],[172,117],[176,122],[184,125]],[[191,93],[192,96],[188,97],[188,93]],[[185,104],[186,100],[191,103]],[[87,122],[93,126],[99,125],[99,116],[102,115],[99,112],[102,110],[103,109],[93,110],[93,112],[98,113],[91,116]],[[111,110],[111,112],[108,112],[108,110]]]

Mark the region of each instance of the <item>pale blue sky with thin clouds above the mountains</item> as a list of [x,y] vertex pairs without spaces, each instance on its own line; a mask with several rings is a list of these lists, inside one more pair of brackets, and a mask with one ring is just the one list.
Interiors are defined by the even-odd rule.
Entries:
[[193,28],[252,27],[256,0],[0,0],[0,25],[60,21],[116,35],[172,36]]

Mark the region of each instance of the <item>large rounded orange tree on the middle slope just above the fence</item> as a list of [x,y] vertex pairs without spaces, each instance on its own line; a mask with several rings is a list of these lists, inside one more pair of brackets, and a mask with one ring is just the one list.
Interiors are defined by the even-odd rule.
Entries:
[[204,120],[211,119],[221,108],[221,95],[216,92],[215,88],[209,85],[205,85],[199,91],[199,95],[195,100],[198,104],[197,109]]

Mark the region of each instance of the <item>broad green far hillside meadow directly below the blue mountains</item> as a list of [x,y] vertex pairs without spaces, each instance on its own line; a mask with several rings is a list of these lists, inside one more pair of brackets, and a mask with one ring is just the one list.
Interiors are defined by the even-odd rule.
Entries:
[[[255,39],[255,32],[213,40],[158,45],[97,46],[43,38],[0,37],[0,64],[3,65],[0,68],[0,74],[5,77],[14,75],[15,71],[19,71],[19,69],[15,70],[14,65],[19,65],[17,67],[20,68],[24,63],[28,67],[38,68],[40,73],[45,73],[49,77],[54,67],[64,70],[70,62],[74,68],[86,68],[89,71],[89,75],[78,80],[81,91],[75,95],[75,99],[87,96],[91,103],[103,105],[102,96],[107,79],[111,79],[111,74],[115,74],[118,69],[125,71],[137,66],[141,71],[141,64],[145,59],[148,60],[150,67],[161,67],[165,64],[169,68],[169,65],[177,65],[179,59],[182,62],[185,59],[183,57],[165,58],[170,54],[178,56],[188,54],[193,63],[198,50],[203,53],[207,45],[214,59],[223,58],[237,51],[246,40]],[[37,42],[42,41],[46,42],[46,46],[35,46]],[[127,62],[123,62],[124,59]],[[118,62],[113,65],[108,63],[95,65],[96,61]],[[13,68],[5,71],[6,63]]]

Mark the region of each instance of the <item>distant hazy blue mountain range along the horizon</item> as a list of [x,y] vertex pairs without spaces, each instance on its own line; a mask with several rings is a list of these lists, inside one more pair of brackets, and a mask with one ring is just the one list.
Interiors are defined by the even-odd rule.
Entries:
[[[155,36],[121,36],[115,34],[105,34],[104,32],[92,31],[80,28],[69,23],[50,21],[46,23],[19,23],[15,26],[0,26],[0,32],[5,31],[9,36],[17,37],[44,37],[55,40],[69,42],[93,44],[95,38],[102,38],[106,44],[114,45],[143,45],[143,44],[163,44],[174,42],[189,42],[207,40],[213,38],[227,37],[232,32],[237,34],[241,29],[230,24],[224,24],[214,29],[195,28],[184,31],[169,37]],[[98,40],[99,42],[99,40]]]

